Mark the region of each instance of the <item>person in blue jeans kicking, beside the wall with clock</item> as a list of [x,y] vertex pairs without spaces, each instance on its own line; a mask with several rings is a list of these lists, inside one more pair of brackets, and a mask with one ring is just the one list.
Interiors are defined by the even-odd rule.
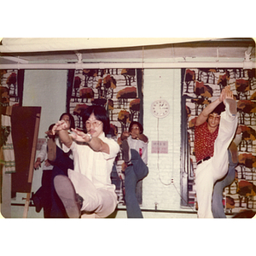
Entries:
[[137,183],[148,175],[148,137],[143,125],[132,121],[121,135],[125,160],[125,205],[127,218],[143,218],[136,196]]

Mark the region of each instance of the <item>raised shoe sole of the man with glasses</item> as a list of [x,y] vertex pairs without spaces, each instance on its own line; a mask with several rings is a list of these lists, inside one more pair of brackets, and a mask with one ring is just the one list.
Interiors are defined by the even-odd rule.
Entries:
[[67,176],[57,175],[54,178],[54,184],[56,193],[66,209],[68,218],[80,218],[81,205],[71,180]]

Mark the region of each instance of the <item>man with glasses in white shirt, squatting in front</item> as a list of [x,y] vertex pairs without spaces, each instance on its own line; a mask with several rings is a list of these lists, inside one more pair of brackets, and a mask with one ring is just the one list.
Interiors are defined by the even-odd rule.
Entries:
[[68,169],[68,177],[55,177],[55,190],[69,218],[83,218],[89,214],[106,218],[117,206],[110,175],[119,144],[106,137],[110,124],[105,108],[86,108],[83,121],[87,133],[73,129],[69,134],[63,121],[58,121],[53,127],[53,133],[57,132],[61,138],[63,150],[72,149],[74,160],[74,169]]

